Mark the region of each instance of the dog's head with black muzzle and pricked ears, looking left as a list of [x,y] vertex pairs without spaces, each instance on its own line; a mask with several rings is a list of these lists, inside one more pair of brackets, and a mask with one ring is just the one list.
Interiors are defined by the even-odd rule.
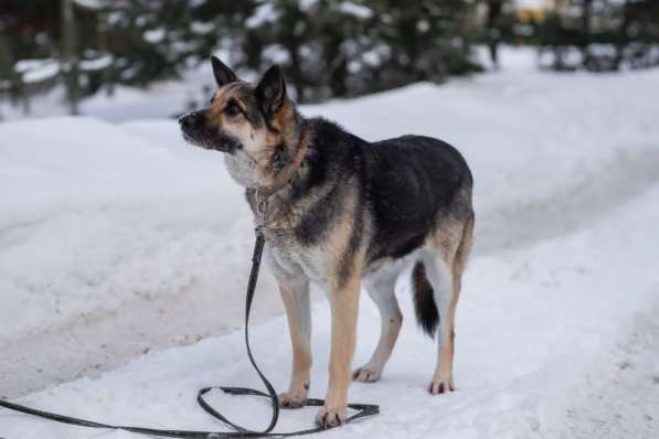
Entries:
[[210,107],[179,118],[183,138],[198,147],[226,153],[232,176],[246,186],[268,184],[277,163],[295,152],[299,116],[286,94],[279,66],[252,84],[241,81],[211,57],[217,92]]

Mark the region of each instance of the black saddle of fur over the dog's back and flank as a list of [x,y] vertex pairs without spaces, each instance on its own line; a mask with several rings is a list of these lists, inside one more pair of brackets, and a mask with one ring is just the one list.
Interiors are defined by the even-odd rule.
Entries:
[[403,136],[368,150],[366,199],[374,222],[370,260],[402,257],[422,246],[443,218],[471,215],[471,173],[450,144]]

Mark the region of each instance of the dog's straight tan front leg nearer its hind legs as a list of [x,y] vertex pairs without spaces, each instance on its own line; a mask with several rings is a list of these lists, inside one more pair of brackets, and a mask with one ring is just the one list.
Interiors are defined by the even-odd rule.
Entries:
[[350,365],[354,352],[357,313],[359,307],[360,277],[355,272],[330,289],[332,313],[332,341],[329,364],[329,385],[325,406],[316,417],[320,427],[333,427],[346,422]]

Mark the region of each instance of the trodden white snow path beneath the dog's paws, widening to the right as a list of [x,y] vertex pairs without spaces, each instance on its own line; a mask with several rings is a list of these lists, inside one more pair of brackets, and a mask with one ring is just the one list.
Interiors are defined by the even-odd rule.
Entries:
[[[381,415],[323,437],[574,437],[575,431],[592,437],[593,430],[606,437],[620,429],[635,438],[652,437],[659,413],[659,257],[648,236],[659,222],[658,201],[655,185],[586,229],[475,258],[458,312],[458,390],[438,397],[425,392],[435,346],[407,319],[383,379],[351,386],[351,400],[379,403]],[[402,296],[410,317],[410,300]],[[355,364],[368,358],[379,328],[368,299],[361,308]],[[311,395],[322,396],[326,303],[315,306],[312,319]],[[263,368],[276,387],[285,388],[290,363],[285,319],[252,333]],[[257,385],[244,354],[242,334],[234,332],[148,354],[98,379],[83,378],[21,401],[108,422],[222,429],[195,407],[194,393],[210,384]],[[609,389],[614,374],[633,387]],[[598,409],[589,403],[597,389],[625,403],[603,401]],[[267,401],[221,395],[214,401],[242,422],[261,427],[267,419]],[[312,409],[284,411],[279,429],[308,427],[312,417]],[[0,413],[0,420],[7,438],[98,435],[8,413]]]

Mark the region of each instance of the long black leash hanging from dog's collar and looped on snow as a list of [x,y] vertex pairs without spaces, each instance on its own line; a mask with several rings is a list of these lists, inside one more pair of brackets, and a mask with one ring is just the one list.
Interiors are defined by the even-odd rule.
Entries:
[[[237,439],[237,438],[287,438],[291,436],[302,436],[302,435],[310,435],[315,432],[320,432],[327,430],[329,428],[334,427],[316,427],[309,428],[307,430],[300,431],[290,431],[290,432],[272,432],[275,426],[277,425],[277,420],[279,419],[279,399],[277,397],[277,393],[275,388],[270,384],[270,382],[265,377],[265,375],[261,372],[256,362],[254,361],[254,356],[252,355],[252,349],[249,347],[249,311],[252,310],[252,301],[254,299],[254,290],[256,289],[256,280],[258,279],[258,269],[261,267],[261,256],[263,254],[263,246],[265,244],[265,236],[261,228],[256,229],[256,243],[254,244],[254,255],[252,256],[252,271],[249,272],[249,280],[247,282],[247,293],[245,298],[245,346],[247,347],[247,356],[249,357],[249,363],[258,374],[258,377],[265,385],[267,389],[267,394],[255,390],[253,388],[247,387],[204,387],[199,390],[196,394],[196,401],[209,415],[213,416],[214,418],[221,420],[222,422],[226,424],[227,426],[232,427],[236,431],[194,431],[194,430],[164,430],[158,428],[145,428],[145,427],[132,427],[132,426],[115,426],[110,424],[102,424],[95,422],[87,419],[81,418],[73,418],[71,416],[57,415],[51,411],[38,410],[34,408],[21,406],[19,404],[9,403],[6,400],[0,399],[0,407],[8,408],[10,410],[24,413],[28,415],[39,416],[40,418],[51,419],[57,422],[70,424],[73,426],[79,427],[91,427],[91,428],[109,428],[116,430],[126,430],[142,435],[151,435],[151,436],[161,436],[161,437],[169,437],[169,438],[185,438],[185,439]],[[270,424],[267,428],[263,431],[254,431],[249,430],[248,428],[241,427],[228,419],[226,419],[222,414],[215,410],[206,400],[204,399],[204,395],[212,389],[219,389],[224,392],[228,395],[248,395],[248,396],[262,396],[266,398],[270,398],[272,406],[273,406],[273,415],[270,417]],[[325,400],[322,399],[308,399],[307,406],[322,406],[325,405]],[[346,424],[352,422],[357,419],[364,418],[368,416],[378,415],[380,413],[380,407],[378,405],[372,404],[348,404],[348,407],[357,410],[357,413],[350,416]]]

